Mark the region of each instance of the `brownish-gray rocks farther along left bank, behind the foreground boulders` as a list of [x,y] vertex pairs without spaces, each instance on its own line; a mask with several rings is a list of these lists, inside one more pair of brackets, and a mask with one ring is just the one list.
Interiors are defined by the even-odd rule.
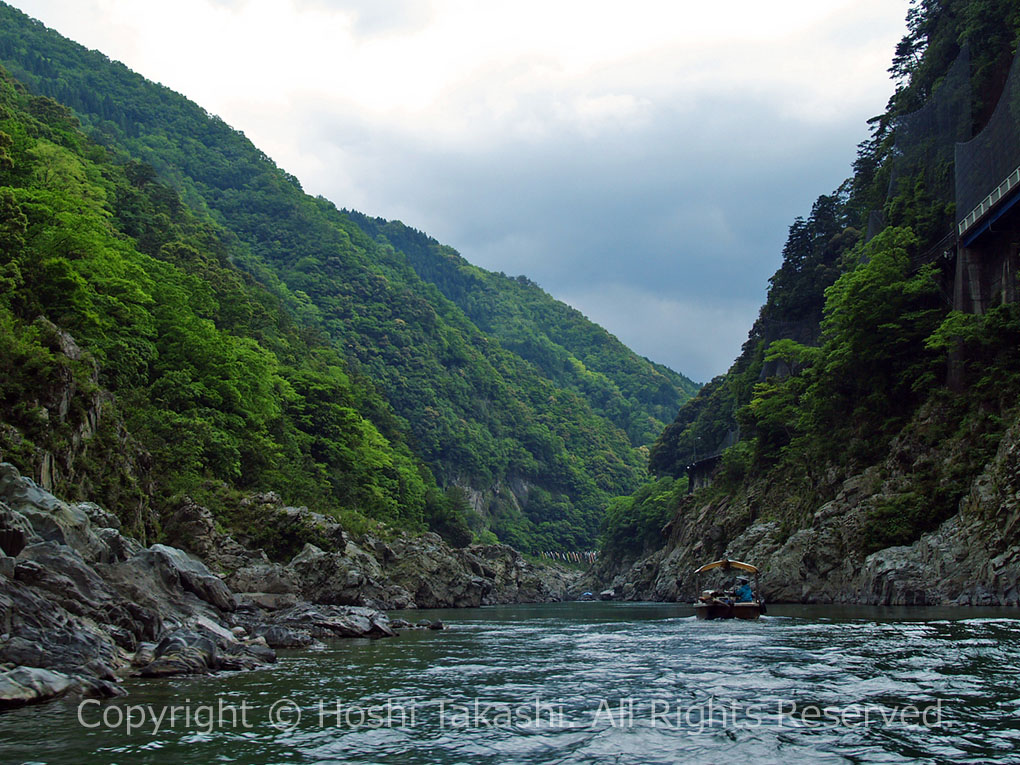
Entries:
[[265,609],[300,601],[376,609],[449,608],[565,599],[576,574],[531,563],[506,545],[451,548],[436,533],[355,540],[339,523],[272,494],[249,498],[274,527],[300,528],[306,543],[290,560],[270,561],[216,530],[206,508],[186,500],[168,522],[169,538],[220,572],[230,588]]

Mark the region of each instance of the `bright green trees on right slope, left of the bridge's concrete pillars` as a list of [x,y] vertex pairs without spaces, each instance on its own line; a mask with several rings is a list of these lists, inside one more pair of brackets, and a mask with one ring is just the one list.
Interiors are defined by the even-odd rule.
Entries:
[[945,307],[930,269],[911,272],[914,247],[909,230],[891,227],[858,247],[858,265],[825,292],[821,347],[769,347],[766,360],[796,372],[756,385],[741,412],[759,463],[789,448],[811,460],[867,462],[924,400],[938,362],[925,343]]

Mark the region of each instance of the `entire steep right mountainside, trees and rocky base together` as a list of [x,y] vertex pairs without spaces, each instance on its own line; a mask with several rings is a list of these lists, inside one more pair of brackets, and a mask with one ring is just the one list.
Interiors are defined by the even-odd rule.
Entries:
[[[616,565],[660,549],[633,593],[675,597],[685,566],[729,554],[795,599],[1013,597],[993,571],[1018,555],[997,493],[1017,474],[1020,223],[1009,205],[966,237],[961,221],[1020,162],[1020,6],[912,0],[907,22],[853,175],[789,227],[741,355],[657,440],[658,489],[610,515]],[[972,139],[991,147],[975,189],[955,159]],[[671,481],[699,461],[714,482],[684,497]]]

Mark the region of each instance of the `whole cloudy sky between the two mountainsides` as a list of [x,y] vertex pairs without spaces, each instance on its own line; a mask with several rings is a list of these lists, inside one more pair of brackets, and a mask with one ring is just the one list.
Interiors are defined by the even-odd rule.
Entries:
[[699,380],[850,173],[907,0],[9,0],[306,191],[524,273]]

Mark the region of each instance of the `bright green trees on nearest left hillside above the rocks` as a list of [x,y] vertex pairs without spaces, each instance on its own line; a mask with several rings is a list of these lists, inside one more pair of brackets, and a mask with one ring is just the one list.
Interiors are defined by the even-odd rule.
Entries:
[[[157,505],[218,478],[421,528],[430,474],[359,413],[385,404],[231,265],[228,235],[140,166],[90,149],[65,109],[2,84],[13,167],[0,188],[5,457],[31,468],[38,450],[63,455],[64,493],[106,487],[92,499],[129,514],[139,498],[107,477],[118,466],[104,435],[81,446],[103,389],[117,402],[104,418],[121,417],[151,460]],[[68,357],[54,325],[87,355]]]

